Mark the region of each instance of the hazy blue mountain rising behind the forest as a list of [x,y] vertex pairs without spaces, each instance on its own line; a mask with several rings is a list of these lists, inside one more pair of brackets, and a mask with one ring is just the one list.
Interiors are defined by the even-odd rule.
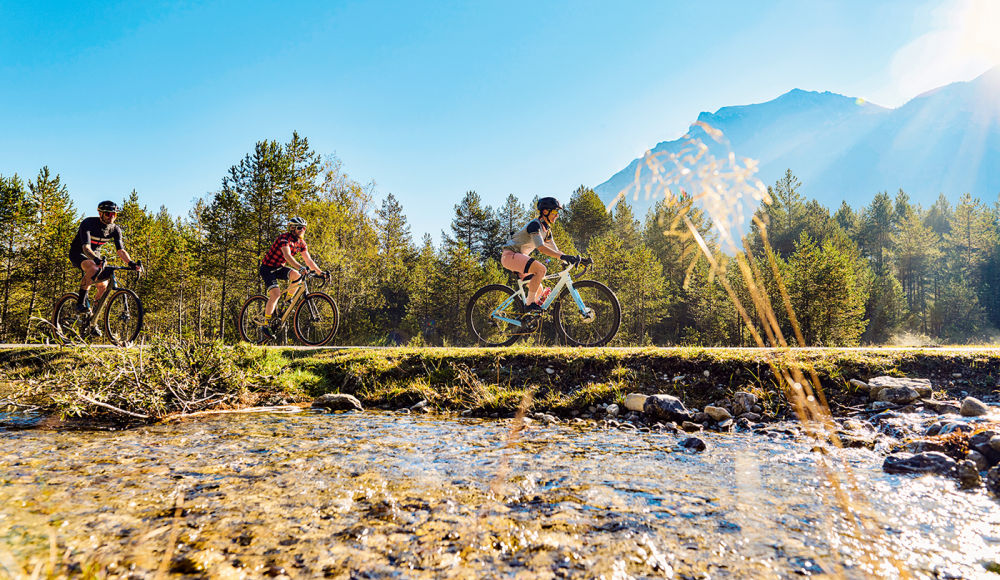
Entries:
[[[691,137],[725,157],[760,162],[757,177],[773,185],[786,169],[802,182],[799,192],[835,211],[841,200],[855,210],[879,191],[900,188],[913,203],[929,207],[944,193],[955,200],[969,192],[992,203],[1000,194],[1000,66],[980,77],[928,91],[898,109],[834,93],[792,90],[761,104],[723,107],[698,121],[722,131],[716,144],[692,124]],[[687,142],[659,143],[653,153],[676,153]],[[634,182],[636,159],[595,187],[605,202]],[[644,186],[650,178],[643,171]],[[639,216],[655,200],[633,200]]]

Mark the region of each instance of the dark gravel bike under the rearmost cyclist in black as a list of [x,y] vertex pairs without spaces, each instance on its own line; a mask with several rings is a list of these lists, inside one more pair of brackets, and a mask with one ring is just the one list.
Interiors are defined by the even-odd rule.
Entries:
[[[89,340],[92,335],[100,336],[97,321],[101,320],[103,312],[104,336],[112,344],[125,346],[135,342],[139,332],[142,331],[142,301],[132,290],[118,286],[115,272],[119,270],[136,272],[141,265],[142,260],[137,260],[135,267],[104,266],[101,273],[111,272],[107,278],[108,287],[90,312],[77,312],[76,304],[80,300],[80,295],[76,292],[64,294],[56,300],[56,306],[52,311],[52,326],[55,327],[56,336],[65,340],[82,341]],[[100,276],[101,274],[98,274],[98,282],[101,281]]]

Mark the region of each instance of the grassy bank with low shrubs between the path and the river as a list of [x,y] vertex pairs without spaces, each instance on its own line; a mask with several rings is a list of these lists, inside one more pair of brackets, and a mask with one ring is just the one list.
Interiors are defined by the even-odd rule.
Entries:
[[929,378],[954,396],[965,391],[992,400],[1000,350],[22,348],[0,351],[0,399],[64,417],[149,422],[307,402],[331,392],[352,394],[366,407],[426,399],[438,410],[502,415],[513,412],[526,391],[534,409],[569,414],[621,403],[632,392],[670,394],[702,408],[749,390],[774,416],[784,401],[772,368],[793,367],[815,372],[835,412],[857,402],[850,379],[879,375]]

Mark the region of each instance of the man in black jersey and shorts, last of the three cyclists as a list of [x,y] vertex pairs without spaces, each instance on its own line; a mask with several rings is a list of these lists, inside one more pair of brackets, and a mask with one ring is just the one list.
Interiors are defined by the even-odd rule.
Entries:
[[73,265],[83,271],[83,278],[80,280],[80,297],[76,302],[78,312],[90,311],[90,287],[97,282],[97,296],[95,300],[100,300],[104,291],[108,287],[108,278],[111,272],[102,273],[104,263],[107,258],[101,256],[101,248],[108,242],[115,244],[118,257],[130,267],[142,272],[142,264],[133,262],[132,258],[125,251],[122,243],[122,228],[115,223],[118,212],[121,208],[113,201],[102,201],[97,206],[98,217],[85,218],[80,222],[80,229],[73,238],[73,243],[69,246],[69,259]]

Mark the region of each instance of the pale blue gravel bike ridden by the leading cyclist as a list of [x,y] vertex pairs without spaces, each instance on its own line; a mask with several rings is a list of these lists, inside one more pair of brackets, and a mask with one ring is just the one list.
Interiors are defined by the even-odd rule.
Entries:
[[[594,263],[583,258],[581,276]],[[565,262],[564,262],[565,264]],[[465,311],[469,333],[482,346],[509,346],[541,327],[541,318],[551,308],[559,332],[573,346],[604,346],[615,337],[622,322],[622,307],[610,288],[594,280],[574,282],[573,264],[545,280],[556,280],[555,287],[542,304],[542,310],[525,312],[528,281],[534,274],[518,280],[517,290],[504,284],[480,288],[469,300]]]

